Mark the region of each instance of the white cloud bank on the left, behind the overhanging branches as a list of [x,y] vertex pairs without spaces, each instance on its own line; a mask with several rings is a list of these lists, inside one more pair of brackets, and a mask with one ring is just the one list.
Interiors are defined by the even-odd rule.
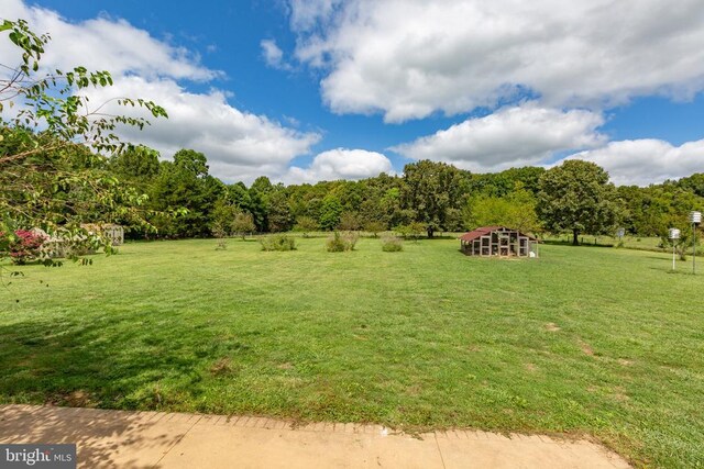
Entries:
[[[148,145],[164,157],[180,148],[202,152],[210,174],[226,181],[280,176],[293,158],[309,154],[310,146],[320,139],[319,134],[298,132],[230,105],[227,91],[188,91],[184,80],[208,82],[221,74],[200,64],[189,51],[158,41],[124,20],[98,18],[70,23],[53,11],[26,7],[19,0],[3,0],[2,15],[26,19],[33,31],[51,33],[42,58],[45,68],[66,70],[84,65],[109,70],[114,86],[85,90],[95,105],[131,97],[153,100],[168,112],[168,120],[150,119],[152,125],[144,131],[119,130],[123,139]],[[15,47],[0,41],[0,63],[15,64],[18,58]],[[116,105],[105,111],[132,114]]]

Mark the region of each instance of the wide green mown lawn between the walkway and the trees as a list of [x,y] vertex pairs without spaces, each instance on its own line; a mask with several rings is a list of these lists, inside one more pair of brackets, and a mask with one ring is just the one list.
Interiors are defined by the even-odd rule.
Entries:
[[0,289],[0,402],[590,434],[638,465],[704,465],[704,259],[323,243],[24,267]]

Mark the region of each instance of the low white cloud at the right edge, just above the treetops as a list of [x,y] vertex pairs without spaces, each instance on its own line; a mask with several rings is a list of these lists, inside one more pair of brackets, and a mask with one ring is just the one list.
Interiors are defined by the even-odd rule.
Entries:
[[610,142],[603,148],[581,152],[569,158],[596,163],[618,186],[647,186],[704,172],[704,139],[681,146],[660,139]]

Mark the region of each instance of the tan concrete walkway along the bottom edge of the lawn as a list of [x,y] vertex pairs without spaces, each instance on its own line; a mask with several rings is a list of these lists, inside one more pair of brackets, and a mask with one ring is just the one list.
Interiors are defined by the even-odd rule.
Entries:
[[0,443],[75,443],[85,468],[628,468],[590,442],[260,417],[0,406]]

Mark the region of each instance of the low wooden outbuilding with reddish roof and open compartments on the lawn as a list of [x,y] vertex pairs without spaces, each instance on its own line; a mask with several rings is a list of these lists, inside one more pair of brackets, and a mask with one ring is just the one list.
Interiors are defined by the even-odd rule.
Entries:
[[482,226],[460,236],[468,256],[538,257],[538,238],[506,226]]

